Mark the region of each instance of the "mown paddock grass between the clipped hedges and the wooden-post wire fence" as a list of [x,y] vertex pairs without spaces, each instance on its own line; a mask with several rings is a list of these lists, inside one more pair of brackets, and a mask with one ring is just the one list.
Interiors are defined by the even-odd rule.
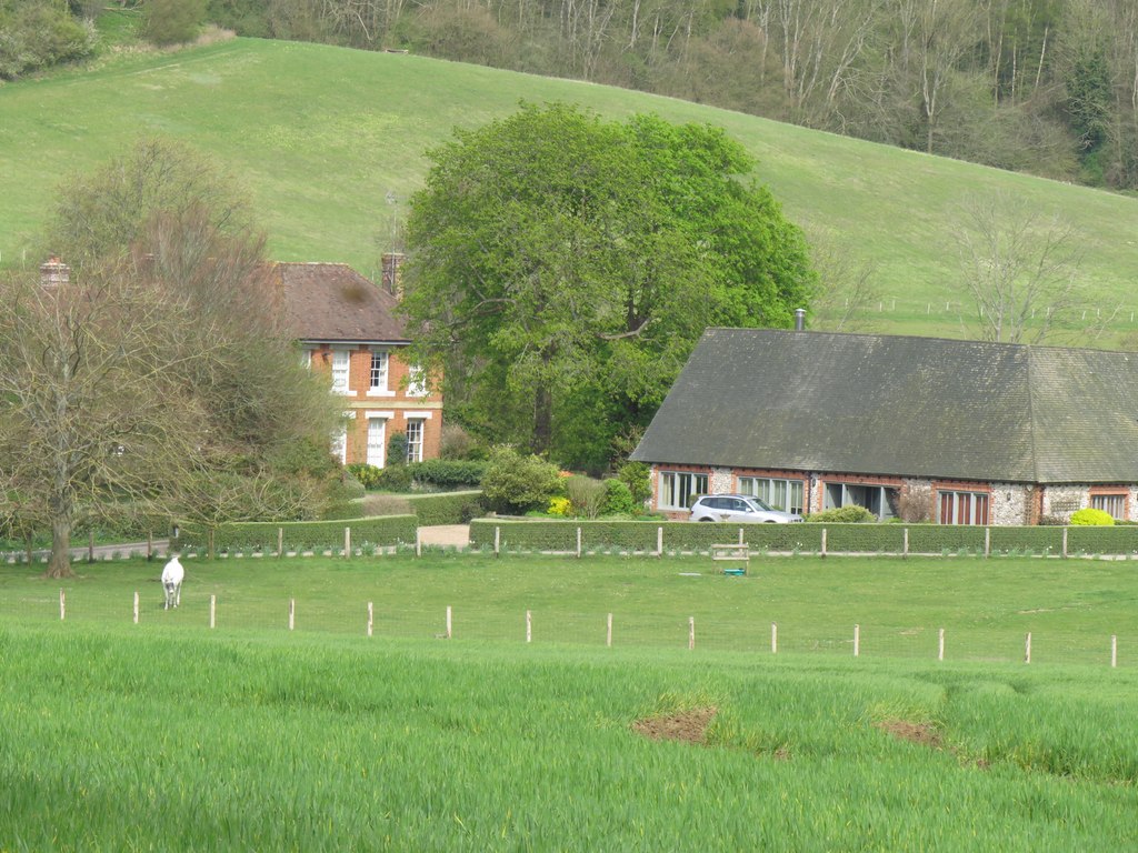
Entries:
[[[855,626],[865,657],[1021,661],[1032,633],[1036,664],[1108,666],[1138,662],[1138,574],[1129,561],[993,557],[768,557],[747,578],[714,573],[707,557],[522,557],[430,554],[372,558],[190,561],[176,613],[163,613],[160,563],[76,564],[65,581],[68,621],[132,622],[139,630],[207,630],[211,596],[222,632],[287,630],[534,645],[769,654],[852,655]],[[0,618],[58,621],[60,585],[38,570],[0,570]]]

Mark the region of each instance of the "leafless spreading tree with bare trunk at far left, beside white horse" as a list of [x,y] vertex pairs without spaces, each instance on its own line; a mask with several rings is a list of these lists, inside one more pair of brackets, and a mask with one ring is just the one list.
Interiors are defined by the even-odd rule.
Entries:
[[48,574],[65,577],[76,521],[148,505],[195,453],[201,419],[178,394],[182,356],[155,334],[179,312],[121,268],[51,287],[10,278],[0,299],[5,503],[50,528]]

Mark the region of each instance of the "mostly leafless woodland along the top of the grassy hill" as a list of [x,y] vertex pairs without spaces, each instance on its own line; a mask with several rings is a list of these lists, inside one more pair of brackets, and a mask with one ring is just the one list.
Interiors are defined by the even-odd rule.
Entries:
[[239,34],[668,94],[1138,188],[1138,0],[211,0]]

